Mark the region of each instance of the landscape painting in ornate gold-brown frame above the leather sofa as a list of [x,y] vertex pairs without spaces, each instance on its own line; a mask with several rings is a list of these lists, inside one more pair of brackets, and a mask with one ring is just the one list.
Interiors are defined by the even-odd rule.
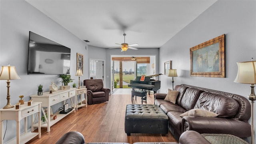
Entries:
[[190,76],[225,78],[225,34],[190,48]]

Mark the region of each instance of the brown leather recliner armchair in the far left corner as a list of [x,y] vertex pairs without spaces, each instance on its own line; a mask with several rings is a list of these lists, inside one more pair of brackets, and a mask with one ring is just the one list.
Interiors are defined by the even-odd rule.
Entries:
[[110,93],[109,88],[103,88],[103,80],[84,80],[84,86],[87,88],[87,103],[96,104],[108,101]]

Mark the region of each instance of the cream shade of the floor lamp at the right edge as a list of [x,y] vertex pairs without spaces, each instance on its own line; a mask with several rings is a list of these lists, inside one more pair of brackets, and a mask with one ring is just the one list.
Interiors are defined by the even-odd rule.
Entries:
[[238,71],[234,82],[256,84],[256,61],[237,62]]

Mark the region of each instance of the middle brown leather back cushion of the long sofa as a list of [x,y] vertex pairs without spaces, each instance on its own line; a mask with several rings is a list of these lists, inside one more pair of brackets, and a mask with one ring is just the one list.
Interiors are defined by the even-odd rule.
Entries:
[[180,106],[182,106],[182,108],[186,109],[187,111],[191,110],[194,108],[196,101],[202,92],[204,91],[200,89],[187,88],[180,102]]

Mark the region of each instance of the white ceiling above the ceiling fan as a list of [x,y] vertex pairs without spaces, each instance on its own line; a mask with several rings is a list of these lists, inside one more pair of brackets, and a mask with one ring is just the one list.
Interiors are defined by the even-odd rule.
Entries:
[[216,0],[26,0],[91,46],[160,48]]

